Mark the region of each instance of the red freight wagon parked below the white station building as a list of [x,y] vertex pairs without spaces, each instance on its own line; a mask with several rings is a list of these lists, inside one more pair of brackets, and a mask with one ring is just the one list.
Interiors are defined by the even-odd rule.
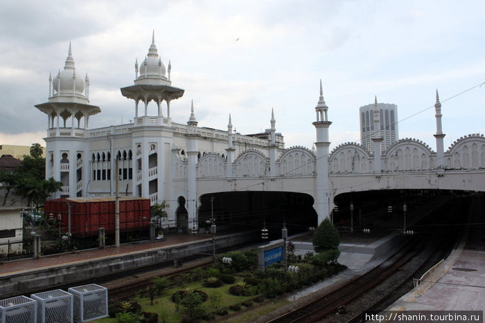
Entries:
[[[61,218],[62,232],[73,237],[89,237],[98,234],[98,228],[105,228],[106,234],[114,233],[114,197],[75,197],[54,199],[44,203],[44,214]],[[148,230],[150,225],[150,199],[137,196],[123,196],[120,201],[120,232]]]

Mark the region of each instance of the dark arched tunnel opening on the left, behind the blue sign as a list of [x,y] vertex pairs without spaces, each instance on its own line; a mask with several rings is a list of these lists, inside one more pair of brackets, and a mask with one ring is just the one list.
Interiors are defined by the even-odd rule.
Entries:
[[206,221],[215,219],[217,230],[253,228],[269,230],[270,238],[281,237],[283,222],[288,234],[307,231],[317,225],[312,196],[294,192],[221,192],[204,194],[198,210],[199,228],[208,230]]

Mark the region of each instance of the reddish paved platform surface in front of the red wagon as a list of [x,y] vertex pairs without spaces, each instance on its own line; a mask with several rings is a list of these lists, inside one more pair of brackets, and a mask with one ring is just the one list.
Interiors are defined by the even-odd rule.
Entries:
[[0,265],[0,277],[13,273],[26,272],[28,270],[48,268],[52,266],[61,266],[65,264],[74,264],[77,262],[101,259],[118,255],[128,255],[133,252],[141,252],[143,250],[150,250],[154,248],[157,249],[161,247],[177,245],[179,243],[188,243],[210,238],[211,235],[208,234],[168,234],[166,235],[164,240],[141,243],[127,243],[119,246],[118,248],[114,246],[109,246],[105,249],[80,250],[76,253],[50,255],[42,257],[40,259],[22,259],[18,261],[11,261]]

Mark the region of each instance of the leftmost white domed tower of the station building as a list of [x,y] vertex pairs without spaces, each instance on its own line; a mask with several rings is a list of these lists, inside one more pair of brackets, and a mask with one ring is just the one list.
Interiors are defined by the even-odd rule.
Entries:
[[71,43],[62,71],[49,75],[48,102],[35,107],[47,115],[46,179],[62,182],[59,197],[86,196],[89,183],[89,149],[84,140],[89,116],[99,107],[89,104],[89,77],[76,72]]

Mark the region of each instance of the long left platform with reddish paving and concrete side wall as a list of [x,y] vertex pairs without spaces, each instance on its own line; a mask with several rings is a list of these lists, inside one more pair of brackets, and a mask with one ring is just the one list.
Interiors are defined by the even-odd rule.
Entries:
[[55,289],[66,284],[92,282],[98,277],[117,275],[145,266],[161,266],[169,261],[211,254],[216,249],[254,241],[247,232],[215,234],[168,234],[164,240],[127,243],[119,247],[80,250],[0,264],[0,295],[3,298]]

